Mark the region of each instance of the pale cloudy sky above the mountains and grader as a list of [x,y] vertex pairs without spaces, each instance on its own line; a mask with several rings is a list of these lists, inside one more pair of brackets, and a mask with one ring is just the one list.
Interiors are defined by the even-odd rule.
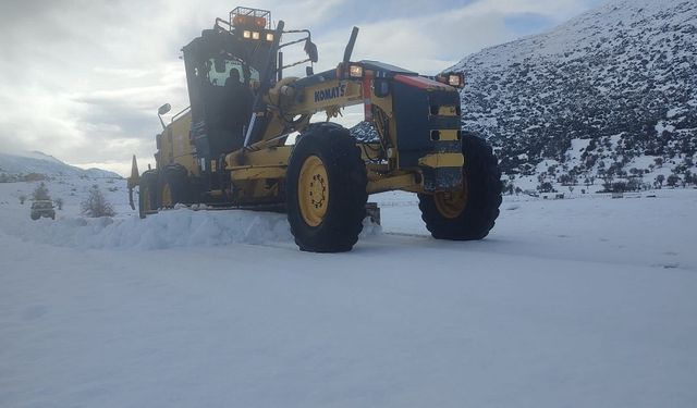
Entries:
[[[478,50],[549,30],[603,0],[247,0],[286,28],[309,28],[315,71],[353,60],[436,74]],[[425,4],[427,3],[427,4]],[[228,18],[212,0],[3,0],[0,151],[39,150],[126,175],[152,162],[157,108],[188,106],[182,46]],[[286,58],[286,62],[288,62]],[[144,166],[144,165],[142,165]]]

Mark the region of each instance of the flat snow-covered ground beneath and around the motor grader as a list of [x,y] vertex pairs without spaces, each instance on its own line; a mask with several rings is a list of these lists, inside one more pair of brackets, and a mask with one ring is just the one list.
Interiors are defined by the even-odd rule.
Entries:
[[[94,183],[113,220],[78,217]],[[476,243],[384,194],[317,255],[279,214],[137,220],[122,184],[49,184],[54,222],[0,184],[0,407],[697,406],[697,190],[506,197]]]

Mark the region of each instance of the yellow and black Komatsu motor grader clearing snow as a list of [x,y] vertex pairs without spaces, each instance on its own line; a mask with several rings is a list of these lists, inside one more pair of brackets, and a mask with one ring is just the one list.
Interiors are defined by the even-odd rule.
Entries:
[[[404,190],[418,195],[435,238],[484,238],[499,215],[501,173],[491,148],[461,129],[463,74],[351,61],[357,33],[335,69],[315,73],[309,30],[273,26],[258,9],[217,18],[182,49],[191,106],[168,124],[170,106],[159,109],[155,169],[139,174],[133,158],[132,208],[138,186],[142,218],[178,203],[280,209],[302,250],[339,252],[357,242],[368,195]],[[284,64],[292,46],[305,59]],[[284,76],[299,64],[305,76]],[[356,104],[377,138],[329,122]],[[320,112],[327,121],[311,123]]]

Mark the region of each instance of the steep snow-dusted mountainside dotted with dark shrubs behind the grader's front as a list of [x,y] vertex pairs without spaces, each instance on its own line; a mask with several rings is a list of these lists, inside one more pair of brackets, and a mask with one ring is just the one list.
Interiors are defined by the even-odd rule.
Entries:
[[452,70],[467,78],[464,128],[509,174],[653,182],[663,164],[682,181],[697,170],[694,0],[610,1]]

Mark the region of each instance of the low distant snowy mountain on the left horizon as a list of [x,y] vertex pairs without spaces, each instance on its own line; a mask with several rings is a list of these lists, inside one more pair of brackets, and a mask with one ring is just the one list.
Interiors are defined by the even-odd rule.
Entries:
[[40,151],[27,151],[21,154],[0,152],[0,174],[42,174],[46,176],[86,176],[90,178],[122,178],[119,174],[101,169],[80,169],[66,164],[52,156]]

